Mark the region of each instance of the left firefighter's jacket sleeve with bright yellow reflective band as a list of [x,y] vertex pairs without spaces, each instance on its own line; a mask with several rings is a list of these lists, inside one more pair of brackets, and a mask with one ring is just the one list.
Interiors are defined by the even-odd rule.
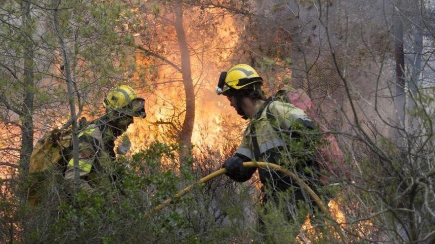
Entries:
[[[92,170],[92,166],[98,155],[98,146],[91,137],[79,138],[79,172],[80,178],[86,178]],[[65,179],[74,180],[74,159],[68,161]]]

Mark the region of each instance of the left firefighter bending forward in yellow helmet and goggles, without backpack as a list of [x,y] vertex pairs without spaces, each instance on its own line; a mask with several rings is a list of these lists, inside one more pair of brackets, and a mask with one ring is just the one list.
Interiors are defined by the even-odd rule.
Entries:
[[[79,136],[79,171],[82,187],[91,190],[98,181],[99,172],[106,169],[116,157],[115,139],[127,131],[133,117],[145,118],[145,100],[138,98],[136,91],[127,85],[107,93],[104,102],[106,113],[81,129]],[[116,174],[110,175],[116,180]],[[67,164],[65,179],[74,179],[74,161]]]

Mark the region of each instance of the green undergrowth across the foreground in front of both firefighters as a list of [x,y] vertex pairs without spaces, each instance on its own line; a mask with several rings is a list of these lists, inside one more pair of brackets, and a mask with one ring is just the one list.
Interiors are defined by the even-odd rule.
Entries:
[[[253,195],[258,191],[252,185],[236,185],[226,176],[198,186],[159,212],[149,213],[179,189],[214,172],[216,162],[227,157],[209,148],[204,151],[206,156],[195,160],[196,174],[190,170],[177,172],[172,169],[177,167],[170,167],[177,147],[155,141],[147,150],[120,158],[92,192],[75,192],[61,175],[52,174],[46,181],[45,198],[38,206],[12,205],[15,200],[2,198],[3,209],[9,211],[3,210],[3,216],[9,214],[10,223],[24,227],[14,228],[13,239],[23,243],[296,241],[309,211],[306,206],[300,206],[298,220],[287,219],[284,206],[291,206],[292,194],[279,194],[281,207],[270,203],[261,207]],[[258,226],[259,216],[267,223],[266,228]],[[2,226],[2,230],[6,231],[7,226]],[[11,240],[3,233],[3,242]],[[328,234],[328,230],[322,233]],[[327,240],[326,243],[334,241]]]

